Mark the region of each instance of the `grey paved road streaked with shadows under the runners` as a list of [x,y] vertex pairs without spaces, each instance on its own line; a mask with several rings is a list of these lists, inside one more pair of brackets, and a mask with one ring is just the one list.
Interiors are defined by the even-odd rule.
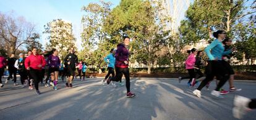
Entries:
[[[234,119],[234,95],[256,98],[256,82],[238,82],[241,92],[214,98],[210,90],[203,89],[203,98],[192,95],[187,81],[177,79],[132,78],[135,98],[126,98],[126,87],[102,86],[101,79],[75,80],[74,88],[59,90],[40,86],[35,90],[11,86],[0,88],[0,119]],[[215,87],[214,82],[210,89]],[[228,88],[228,86],[224,86]],[[252,111],[244,119],[256,119]]]

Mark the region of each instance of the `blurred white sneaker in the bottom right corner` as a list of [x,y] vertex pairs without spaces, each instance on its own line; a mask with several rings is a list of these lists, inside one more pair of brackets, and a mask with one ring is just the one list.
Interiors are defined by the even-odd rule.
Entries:
[[236,95],[234,97],[234,108],[233,108],[234,118],[242,119],[246,111],[250,110],[250,108],[247,107],[250,101],[251,100],[249,98],[242,97],[239,95]]

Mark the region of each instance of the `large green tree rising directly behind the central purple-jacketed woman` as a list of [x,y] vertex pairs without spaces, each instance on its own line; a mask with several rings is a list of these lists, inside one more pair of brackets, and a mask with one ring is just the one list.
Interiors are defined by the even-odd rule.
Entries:
[[166,45],[169,31],[164,31],[164,20],[159,16],[162,6],[158,1],[122,0],[105,21],[105,30],[113,44],[131,36],[132,59],[148,66],[148,74],[155,62],[156,52]]

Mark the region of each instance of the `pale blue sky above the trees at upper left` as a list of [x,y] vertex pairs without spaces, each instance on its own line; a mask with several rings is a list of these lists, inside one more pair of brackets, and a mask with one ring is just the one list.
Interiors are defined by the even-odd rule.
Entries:
[[[120,0],[105,0],[117,6]],[[41,43],[46,43],[46,36],[43,35],[44,25],[51,20],[62,18],[71,22],[75,38],[77,38],[77,47],[81,48],[80,32],[82,31],[81,18],[83,12],[82,6],[87,6],[90,2],[99,2],[98,0],[0,0],[0,12],[23,16],[28,22],[36,25],[36,30],[41,34]]]

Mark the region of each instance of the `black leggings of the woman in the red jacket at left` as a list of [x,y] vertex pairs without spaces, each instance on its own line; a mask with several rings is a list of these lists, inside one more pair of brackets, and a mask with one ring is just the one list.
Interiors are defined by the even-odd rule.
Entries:
[[41,79],[43,79],[41,76],[41,70],[35,70],[35,69],[30,68],[30,75],[34,79],[35,89],[39,90],[38,83],[40,82]]

